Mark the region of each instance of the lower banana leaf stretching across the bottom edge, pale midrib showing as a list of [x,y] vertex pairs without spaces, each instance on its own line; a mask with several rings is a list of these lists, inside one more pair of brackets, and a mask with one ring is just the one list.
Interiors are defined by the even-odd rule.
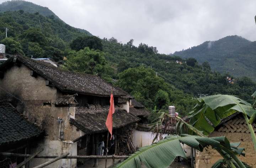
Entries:
[[152,145],[141,147],[115,167],[141,168],[140,161],[142,161],[148,168],[166,168],[174,161],[176,156],[186,158],[180,143],[184,143],[199,151],[203,151],[204,147],[207,145],[211,145],[217,149],[225,147],[225,149],[229,151],[232,150],[228,139],[225,137],[208,138],[187,134],[182,134],[181,136],[169,135],[165,137],[165,139]]

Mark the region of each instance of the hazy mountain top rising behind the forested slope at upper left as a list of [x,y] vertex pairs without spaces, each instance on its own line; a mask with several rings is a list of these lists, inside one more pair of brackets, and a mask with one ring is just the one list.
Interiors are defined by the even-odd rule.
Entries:
[[[48,7],[43,7],[40,5],[33,4],[32,2],[22,1],[22,0],[12,0],[2,2],[0,4],[0,12],[7,12],[7,11],[18,11],[23,10],[24,12],[28,13],[37,13],[41,14],[42,16],[53,16],[52,18],[59,19],[62,21],[53,11],[49,10]],[[63,22],[63,21],[62,21]],[[88,35],[92,35],[89,31],[84,29],[77,28],[81,33],[87,33]]]

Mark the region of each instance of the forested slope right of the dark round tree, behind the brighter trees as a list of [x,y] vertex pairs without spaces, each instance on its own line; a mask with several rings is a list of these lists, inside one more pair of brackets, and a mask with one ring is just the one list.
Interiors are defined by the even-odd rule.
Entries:
[[[132,45],[133,40],[124,45],[110,41],[103,39],[103,51],[107,52],[106,60],[117,68],[117,73],[122,74],[128,68],[143,66],[152,68],[166,82],[192,97],[230,94],[252,103],[251,95],[256,90],[256,83],[249,77],[240,77],[237,83],[230,84],[226,79],[230,74],[212,71],[207,61],[203,62],[203,70],[203,66],[194,58],[182,59],[178,56],[159,54],[155,47],[146,44],[135,47]],[[176,63],[177,60],[182,64]],[[116,74],[114,77],[118,79],[120,75]]]

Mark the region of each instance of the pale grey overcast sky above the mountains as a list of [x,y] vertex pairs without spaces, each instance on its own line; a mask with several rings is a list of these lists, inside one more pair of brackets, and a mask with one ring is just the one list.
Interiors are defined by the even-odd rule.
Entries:
[[[5,0],[0,0],[0,3]],[[27,0],[48,7],[65,23],[118,42],[134,39],[159,53],[229,35],[256,40],[255,0]]]

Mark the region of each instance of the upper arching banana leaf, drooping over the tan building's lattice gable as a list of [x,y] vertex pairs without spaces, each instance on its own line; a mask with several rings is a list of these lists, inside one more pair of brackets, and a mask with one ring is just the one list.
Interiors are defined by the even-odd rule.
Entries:
[[[232,95],[212,95],[197,99],[197,105],[194,111],[190,112],[190,123],[199,131],[203,131],[204,135],[213,132],[221,119],[226,118],[235,112],[242,112],[248,116],[252,116],[255,110],[251,104],[245,102]],[[212,125],[207,121],[209,120]]]

